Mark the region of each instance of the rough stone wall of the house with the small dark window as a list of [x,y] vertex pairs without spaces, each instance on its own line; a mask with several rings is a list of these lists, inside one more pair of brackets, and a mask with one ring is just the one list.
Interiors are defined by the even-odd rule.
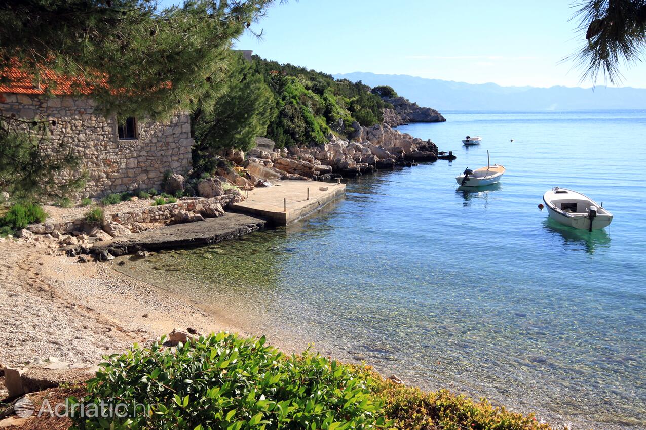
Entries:
[[[85,188],[77,197],[101,197],[112,192],[159,189],[167,170],[191,169],[191,125],[188,115],[161,122],[138,121],[137,139],[118,139],[116,117],[103,117],[87,97],[54,97],[0,93],[0,112],[24,119],[56,120],[52,141],[73,144]],[[65,175],[63,175],[65,177]],[[69,176],[67,176],[69,177]]]

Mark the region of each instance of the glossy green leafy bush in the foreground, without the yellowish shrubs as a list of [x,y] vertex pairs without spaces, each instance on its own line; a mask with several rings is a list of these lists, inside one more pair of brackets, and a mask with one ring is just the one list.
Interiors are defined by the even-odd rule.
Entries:
[[[163,340],[163,339],[162,339]],[[130,418],[72,418],[76,428],[371,430],[386,427],[371,381],[352,366],[286,356],[265,338],[218,333],[177,349],[137,345],[101,364],[81,400],[118,398]],[[151,413],[134,413],[134,404]],[[141,409],[141,407],[140,407]]]

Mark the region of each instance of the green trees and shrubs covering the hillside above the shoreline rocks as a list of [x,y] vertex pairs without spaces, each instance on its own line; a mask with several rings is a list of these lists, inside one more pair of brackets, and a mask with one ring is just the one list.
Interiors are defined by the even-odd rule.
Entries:
[[[255,136],[278,148],[322,144],[329,134],[346,137],[354,121],[371,126],[388,106],[370,86],[292,64],[233,55],[226,90],[206,93],[193,114],[194,166],[226,148],[247,150]],[[391,89],[392,90],[392,89]],[[392,90],[394,93],[394,90]]]

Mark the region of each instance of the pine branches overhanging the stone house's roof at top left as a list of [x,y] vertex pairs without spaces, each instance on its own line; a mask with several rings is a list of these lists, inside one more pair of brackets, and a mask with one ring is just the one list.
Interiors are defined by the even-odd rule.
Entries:
[[3,1],[0,69],[17,66],[41,87],[43,73],[83,78],[110,113],[163,118],[189,112],[227,75],[233,39],[271,0],[187,0],[158,10],[153,0]]

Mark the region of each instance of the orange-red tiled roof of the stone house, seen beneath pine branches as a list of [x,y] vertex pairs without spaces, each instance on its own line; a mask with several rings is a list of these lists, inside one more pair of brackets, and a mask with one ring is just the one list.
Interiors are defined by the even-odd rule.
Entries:
[[[92,87],[87,86],[80,77],[67,77],[58,75],[52,70],[44,70],[43,78],[47,82],[54,81],[56,88],[52,87],[52,93],[56,95],[72,94],[74,92],[89,94]],[[45,87],[35,86],[34,77],[25,73],[16,67],[11,67],[0,72],[0,76],[9,79],[8,84],[0,84],[0,93],[18,93],[18,94],[44,94]]]

